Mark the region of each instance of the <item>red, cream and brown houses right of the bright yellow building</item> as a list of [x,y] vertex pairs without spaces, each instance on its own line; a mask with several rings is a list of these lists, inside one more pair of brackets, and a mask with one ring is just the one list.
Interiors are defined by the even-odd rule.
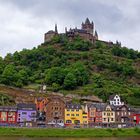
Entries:
[[132,127],[134,110],[127,105],[91,104],[88,107],[89,126]]

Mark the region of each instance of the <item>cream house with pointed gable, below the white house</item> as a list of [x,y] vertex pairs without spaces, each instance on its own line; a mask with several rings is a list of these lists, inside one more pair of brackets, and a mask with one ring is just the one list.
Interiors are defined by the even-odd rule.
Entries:
[[115,111],[110,105],[106,105],[102,111],[102,119],[104,124],[115,123]]

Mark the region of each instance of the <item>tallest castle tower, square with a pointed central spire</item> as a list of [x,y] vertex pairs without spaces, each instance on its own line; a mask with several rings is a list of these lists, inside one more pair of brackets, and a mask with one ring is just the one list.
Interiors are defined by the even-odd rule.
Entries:
[[86,18],[85,23],[82,23],[82,29],[86,30],[87,33],[90,33],[93,35],[93,31],[94,31],[94,24],[93,22],[90,22],[88,18]]

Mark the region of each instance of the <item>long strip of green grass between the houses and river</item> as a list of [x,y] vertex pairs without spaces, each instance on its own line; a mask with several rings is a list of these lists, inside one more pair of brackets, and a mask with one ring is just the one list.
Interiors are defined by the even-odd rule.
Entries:
[[27,137],[114,137],[140,136],[140,129],[39,129],[0,128],[0,136]]

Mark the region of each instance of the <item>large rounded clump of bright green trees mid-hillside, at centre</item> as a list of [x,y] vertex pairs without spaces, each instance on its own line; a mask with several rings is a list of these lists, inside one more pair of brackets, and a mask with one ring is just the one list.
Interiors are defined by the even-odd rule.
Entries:
[[74,89],[88,82],[89,73],[82,63],[75,63],[71,67],[52,67],[46,71],[45,81],[48,85],[59,84],[65,89]]

